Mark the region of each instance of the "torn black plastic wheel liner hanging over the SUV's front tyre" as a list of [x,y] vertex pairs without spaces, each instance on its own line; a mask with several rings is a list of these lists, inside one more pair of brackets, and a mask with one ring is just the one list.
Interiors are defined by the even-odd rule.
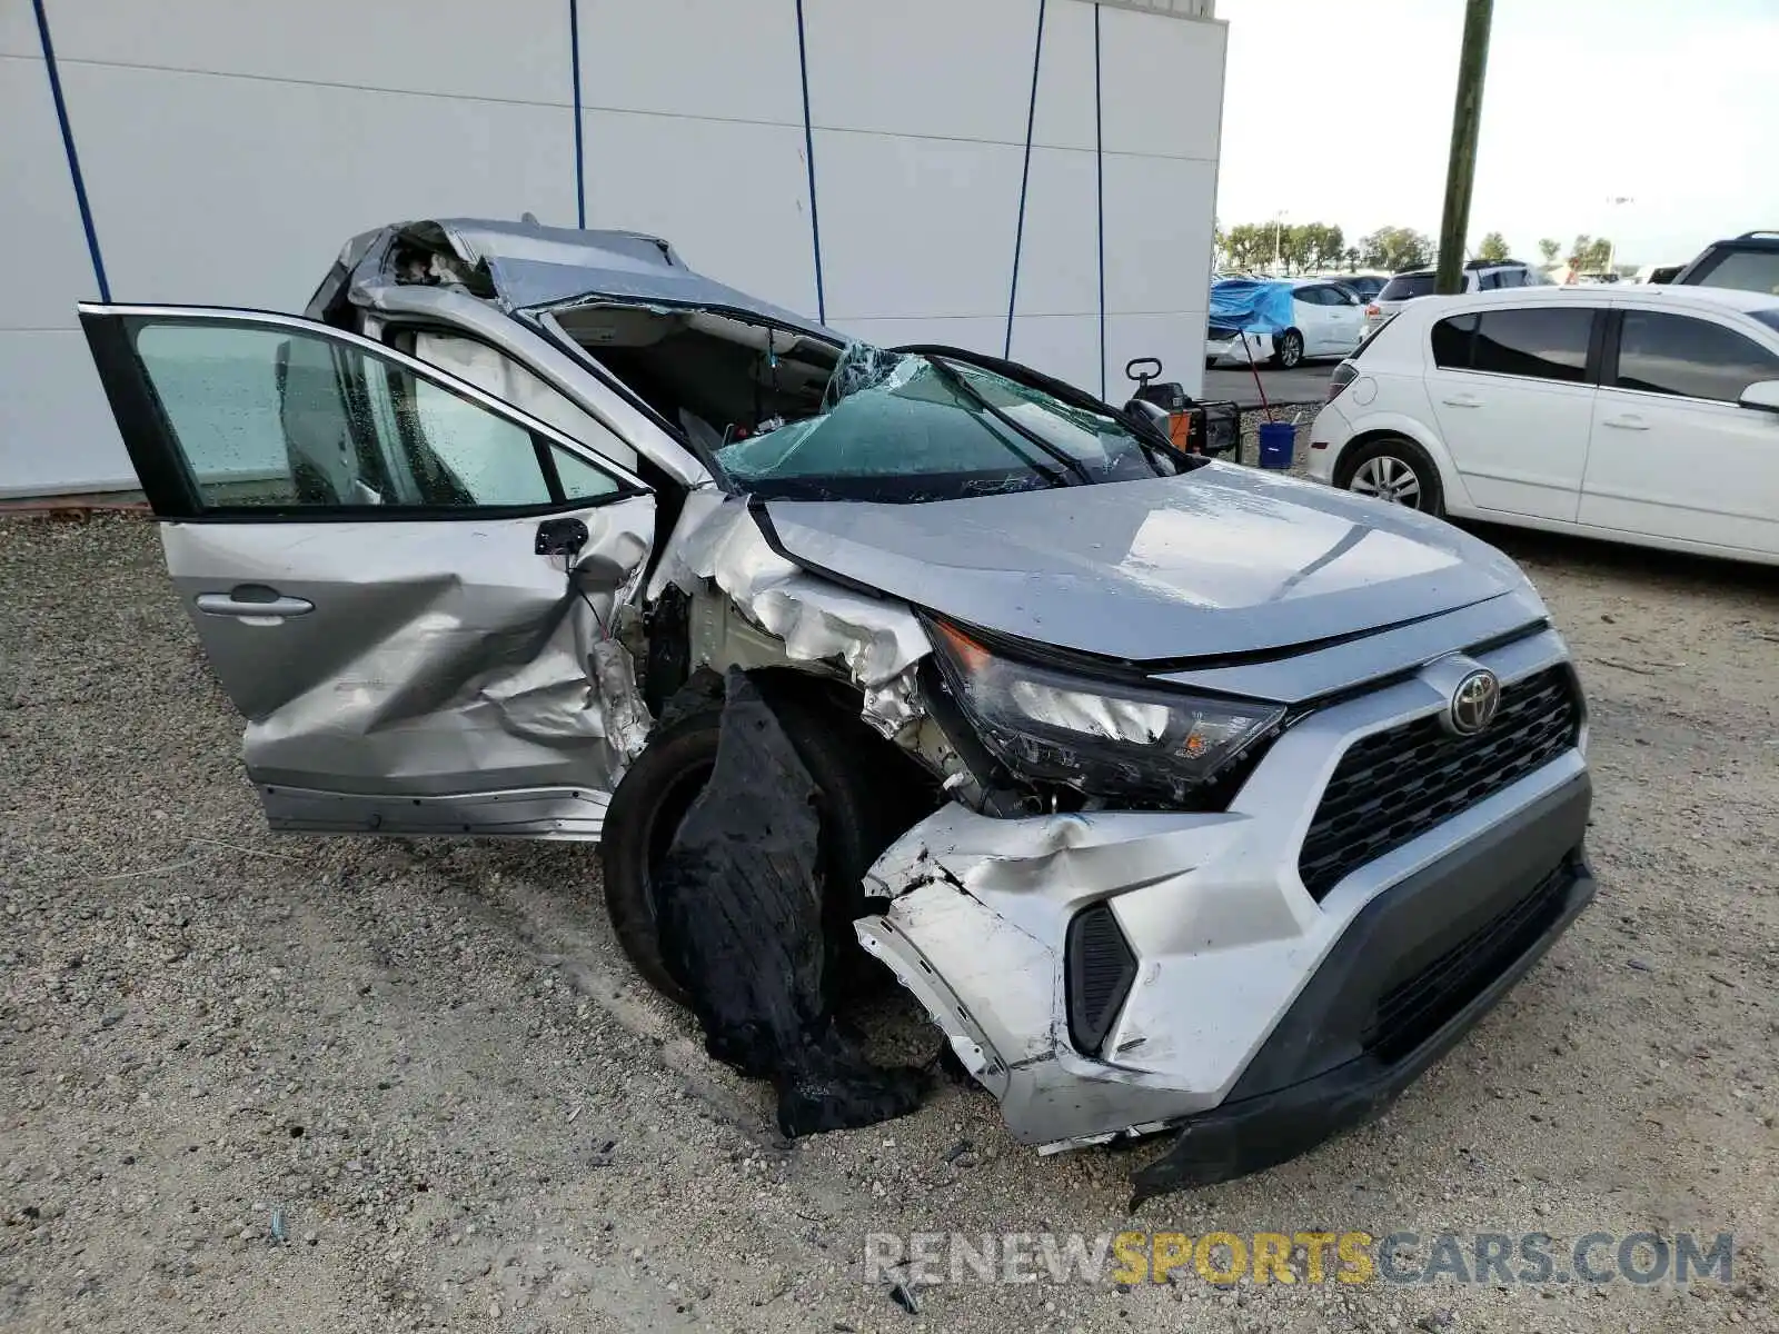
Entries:
[[726,687],[717,763],[653,875],[662,960],[704,1049],[772,1080],[783,1135],[906,1115],[923,1073],[872,1065],[834,1028],[815,783],[753,681],[729,669]]

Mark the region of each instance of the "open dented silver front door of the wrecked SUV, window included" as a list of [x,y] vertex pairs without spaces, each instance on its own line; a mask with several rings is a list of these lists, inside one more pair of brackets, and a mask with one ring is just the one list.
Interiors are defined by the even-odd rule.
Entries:
[[592,838],[639,743],[628,470],[354,333],[82,306],[274,829]]

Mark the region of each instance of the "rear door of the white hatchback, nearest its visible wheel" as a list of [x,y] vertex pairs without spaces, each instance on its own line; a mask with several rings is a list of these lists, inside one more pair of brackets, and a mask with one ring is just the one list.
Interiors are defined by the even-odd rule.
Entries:
[[1605,309],[1566,301],[1434,322],[1427,395],[1478,509],[1574,521],[1594,418],[1596,317]]

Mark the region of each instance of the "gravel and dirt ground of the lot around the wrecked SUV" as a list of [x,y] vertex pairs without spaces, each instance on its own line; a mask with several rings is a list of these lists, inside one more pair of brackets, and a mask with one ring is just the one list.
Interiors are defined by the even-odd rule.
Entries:
[[[1493,537],[1582,660],[1599,902],[1388,1119],[1139,1220],[1735,1231],[1733,1286],[968,1282],[909,1314],[866,1233],[1117,1231],[1156,1147],[1039,1160],[961,1085],[777,1144],[633,980],[589,850],[270,838],[149,525],[12,519],[0,1327],[1779,1329],[1779,580]],[[906,1005],[863,1021],[929,1049]]]

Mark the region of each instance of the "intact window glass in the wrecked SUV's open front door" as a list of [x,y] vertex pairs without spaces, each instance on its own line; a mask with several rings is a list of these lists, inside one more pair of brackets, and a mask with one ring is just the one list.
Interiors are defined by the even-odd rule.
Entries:
[[206,324],[142,324],[135,349],[205,509],[553,500],[528,430],[375,352]]

